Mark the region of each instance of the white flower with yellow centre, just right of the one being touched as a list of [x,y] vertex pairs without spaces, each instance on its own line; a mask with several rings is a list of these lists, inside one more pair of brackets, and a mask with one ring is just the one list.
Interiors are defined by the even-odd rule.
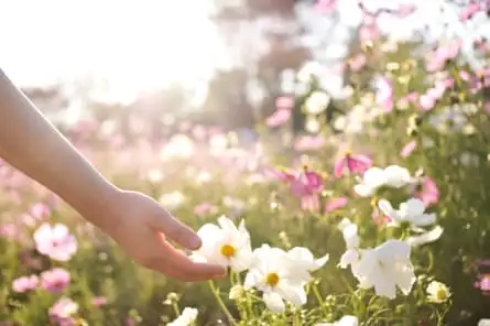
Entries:
[[274,313],[284,312],[283,300],[296,307],[306,303],[303,286],[311,280],[311,275],[305,265],[284,250],[268,244],[255,249],[253,254],[254,261],[247,274],[244,289],[262,291],[265,305]]

